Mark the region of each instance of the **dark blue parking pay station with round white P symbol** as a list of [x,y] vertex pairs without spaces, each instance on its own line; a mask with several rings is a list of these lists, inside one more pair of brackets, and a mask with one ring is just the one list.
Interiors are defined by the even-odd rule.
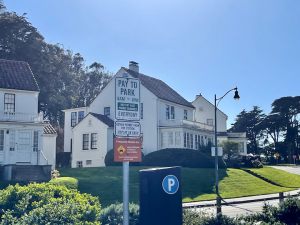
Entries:
[[180,167],[140,170],[142,225],[182,225]]

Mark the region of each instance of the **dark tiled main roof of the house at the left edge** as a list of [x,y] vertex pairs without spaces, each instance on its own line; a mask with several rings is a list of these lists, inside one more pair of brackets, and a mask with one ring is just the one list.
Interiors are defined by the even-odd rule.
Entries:
[[0,88],[39,91],[26,62],[0,59]]

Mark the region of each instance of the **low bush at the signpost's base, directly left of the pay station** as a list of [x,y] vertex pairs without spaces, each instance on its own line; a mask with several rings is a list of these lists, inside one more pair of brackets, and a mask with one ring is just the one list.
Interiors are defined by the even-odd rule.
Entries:
[[[120,225],[123,222],[123,204],[112,204],[101,211],[100,221],[102,225]],[[139,206],[129,204],[129,224],[139,225]]]

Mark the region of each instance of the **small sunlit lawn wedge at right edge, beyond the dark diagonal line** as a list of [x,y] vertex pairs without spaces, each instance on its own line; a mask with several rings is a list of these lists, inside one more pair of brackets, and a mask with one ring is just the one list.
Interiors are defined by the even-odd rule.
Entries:
[[271,167],[264,167],[261,169],[251,169],[252,172],[273,181],[279,186],[299,188],[300,176],[296,174],[287,173],[282,170],[274,169]]

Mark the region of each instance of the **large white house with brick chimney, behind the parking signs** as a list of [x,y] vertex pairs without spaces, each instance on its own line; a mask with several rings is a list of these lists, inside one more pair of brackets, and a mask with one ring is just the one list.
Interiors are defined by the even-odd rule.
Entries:
[[[199,100],[188,102],[163,81],[139,73],[138,64],[130,62],[129,69],[122,67],[88,107],[64,110],[64,151],[72,152],[72,167],[104,166],[104,157],[113,148],[115,77],[124,73],[141,82],[144,154],[164,148],[199,149],[213,143],[214,127],[209,119],[214,112],[202,115],[197,112]],[[226,131],[227,116],[218,113],[218,118],[222,120],[218,127]]]

